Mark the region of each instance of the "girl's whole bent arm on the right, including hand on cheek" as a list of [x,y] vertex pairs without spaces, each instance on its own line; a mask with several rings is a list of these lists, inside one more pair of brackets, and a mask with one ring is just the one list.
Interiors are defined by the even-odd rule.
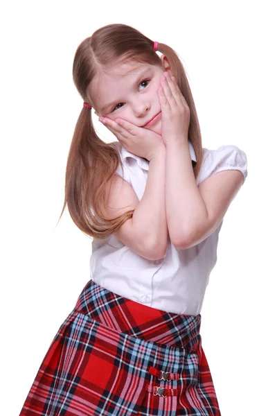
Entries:
[[188,147],[190,109],[174,77],[161,78],[159,101],[162,137],[166,144],[166,216],[172,243],[190,248],[221,223],[242,186],[239,171],[222,171],[197,187]]

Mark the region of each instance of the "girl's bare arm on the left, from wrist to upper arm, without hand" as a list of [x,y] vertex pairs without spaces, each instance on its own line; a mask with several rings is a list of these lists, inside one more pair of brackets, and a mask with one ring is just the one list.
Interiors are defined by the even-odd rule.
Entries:
[[149,260],[163,257],[168,243],[165,163],[166,148],[161,146],[150,159],[148,180],[141,201],[131,185],[118,175],[114,175],[107,194],[108,218],[115,218],[129,209],[134,209],[133,217],[114,234],[131,250]]

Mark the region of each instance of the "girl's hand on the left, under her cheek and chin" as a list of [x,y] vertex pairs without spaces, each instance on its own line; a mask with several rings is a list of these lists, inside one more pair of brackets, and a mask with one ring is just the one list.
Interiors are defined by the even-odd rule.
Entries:
[[129,121],[117,119],[116,121],[108,117],[99,117],[99,121],[104,124],[120,141],[125,149],[139,157],[145,157],[149,161],[153,155],[164,147],[160,135],[143,127],[138,127]]

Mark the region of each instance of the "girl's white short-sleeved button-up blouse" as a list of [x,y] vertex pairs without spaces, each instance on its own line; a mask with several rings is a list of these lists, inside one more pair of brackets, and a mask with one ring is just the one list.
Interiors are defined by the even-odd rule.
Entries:
[[[192,160],[193,146],[188,142]],[[148,178],[149,162],[129,153],[116,142],[123,162],[116,173],[132,185],[141,200]],[[247,156],[236,146],[203,148],[197,186],[217,172],[235,169],[247,177]],[[244,183],[244,182],[243,182]],[[168,239],[166,255],[159,260],[139,256],[112,234],[93,239],[90,276],[100,286],[123,297],[161,311],[197,315],[201,312],[211,270],[217,261],[217,242],[223,221],[204,241],[186,250],[177,249]]]

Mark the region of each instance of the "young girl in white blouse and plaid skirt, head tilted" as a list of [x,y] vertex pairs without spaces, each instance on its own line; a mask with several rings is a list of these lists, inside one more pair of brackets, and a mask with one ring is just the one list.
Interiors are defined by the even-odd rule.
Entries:
[[[62,213],[93,237],[91,279],[20,415],[219,416],[200,312],[247,157],[202,148],[177,54],[132,27],[85,39],[73,79],[84,104]],[[118,141],[98,137],[91,109]]]

